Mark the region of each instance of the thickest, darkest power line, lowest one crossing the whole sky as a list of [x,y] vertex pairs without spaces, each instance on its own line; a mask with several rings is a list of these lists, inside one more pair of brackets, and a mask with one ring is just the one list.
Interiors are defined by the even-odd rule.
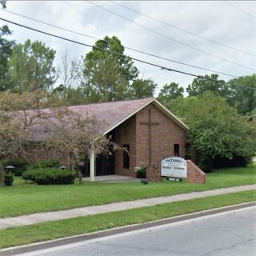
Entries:
[[58,36],[56,34],[51,34],[51,33],[48,33],[48,32],[42,31],[42,30],[34,29],[34,28],[30,27],[30,26],[25,26],[25,25],[19,24],[17,22],[12,22],[10,20],[7,20],[6,18],[0,18],[0,20],[2,20],[4,22],[9,22],[9,23],[14,24],[16,26],[21,26],[21,27],[26,28],[28,30],[36,31],[36,32],[41,33],[41,34],[46,34],[46,35],[49,35],[49,36],[54,37],[54,38],[59,38],[59,39],[65,40],[67,42],[74,42],[74,43],[76,43],[78,45],[87,46],[87,47],[90,47],[90,48],[96,49],[96,50],[102,50],[102,51],[104,51],[106,53],[109,53],[109,54],[118,55],[118,56],[123,57],[123,58],[130,58],[131,60],[134,60],[136,62],[141,62],[141,63],[147,64],[147,65],[150,65],[150,66],[158,67],[161,70],[173,71],[173,72],[179,73],[179,74],[186,74],[186,75],[190,75],[190,76],[192,76],[194,78],[201,78],[201,79],[204,79],[204,80],[214,81],[214,82],[218,82],[218,83],[224,83],[224,84],[229,85],[229,86],[239,86],[239,87],[243,87],[243,88],[250,89],[250,90],[256,90],[256,88],[253,88],[253,87],[237,85],[237,84],[233,84],[233,83],[225,82],[225,81],[218,81],[218,80],[215,80],[213,78],[205,78],[205,77],[202,77],[202,76],[197,75],[197,74],[191,74],[191,73],[188,73],[188,72],[185,72],[185,71],[181,71],[181,70],[174,70],[174,69],[171,69],[171,68],[166,67],[166,66],[160,66],[160,65],[154,64],[152,62],[146,62],[146,61],[143,61],[142,59],[139,59],[139,58],[127,57],[124,54],[120,54],[120,53],[114,52],[112,50],[106,50],[106,49],[102,49],[102,48],[100,48],[98,46],[91,46],[91,45],[86,44],[84,42],[78,42],[78,41],[75,41],[75,40],[72,40],[72,39],[69,39],[69,38],[63,38],[63,37]]

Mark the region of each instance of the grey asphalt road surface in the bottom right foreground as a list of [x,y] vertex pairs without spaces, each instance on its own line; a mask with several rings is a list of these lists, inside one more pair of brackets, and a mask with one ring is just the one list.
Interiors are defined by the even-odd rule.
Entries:
[[37,255],[255,256],[256,208],[134,231]]

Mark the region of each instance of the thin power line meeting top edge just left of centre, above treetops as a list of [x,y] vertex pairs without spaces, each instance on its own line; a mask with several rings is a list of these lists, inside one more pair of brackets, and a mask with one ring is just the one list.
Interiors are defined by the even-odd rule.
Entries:
[[217,44],[217,45],[219,45],[219,46],[226,47],[226,48],[228,48],[228,49],[230,49],[230,50],[235,50],[235,51],[241,52],[242,54],[247,54],[247,55],[256,57],[256,54],[252,54],[252,53],[246,52],[246,51],[244,51],[244,50],[239,50],[239,49],[237,49],[237,48],[234,48],[233,46],[227,46],[226,44],[224,44],[224,43],[222,43],[222,42],[218,42],[218,41],[215,41],[215,40],[210,39],[210,38],[205,38],[205,37],[203,37],[203,36],[200,35],[200,34],[195,34],[195,33],[193,33],[193,32],[190,32],[189,30],[184,30],[184,29],[182,29],[182,28],[180,28],[180,27],[178,27],[178,26],[174,26],[174,25],[172,25],[172,24],[170,24],[170,23],[163,22],[163,21],[159,20],[158,18],[153,18],[152,16],[149,16],[149,15],[146,15],[146,14],[142,14],[142,13],[140,13],[140,12],[137,11],[137,10],[131,9],[130,7],[123,6],[122,4],[120,4],[120,3],[118,3],[118,2],[114,2],[114,1],[109,1],[109,2],[112,2],[114,5],[116,5],[116,6],[121,6],[122,8],[125,8],[126,10],[130,10],[130,11],[136,13],[136,14],[140,14],[140,15],[146,17],[146,18],[150,18],[150,19],[154,20],[155,22],[160,22],[160,23],[162,23],[163,25],[170,26],[171,28],[174,28],[175,30],[180,30],[180,31],[182,31],[182,32],[185,32],[186,34],[192,34],[194,37],[201,38],[201,39],[206,40],[206,41],[208,41],[208,42],[213,42],[213,43],[215,43],[215,44]]

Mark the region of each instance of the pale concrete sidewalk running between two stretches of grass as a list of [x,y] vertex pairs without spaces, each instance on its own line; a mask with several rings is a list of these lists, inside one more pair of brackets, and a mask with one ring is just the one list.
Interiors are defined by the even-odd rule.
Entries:
[[0,218],[0,229],[11,226],[24,226],[40,222],[50,222],[66,218],[75,218],[94,214],[110,213],[118,210],[128,210],[144,206],[156,206],[168,202],[178,202],[194,198],[205,198],[214,195],[235,193],[246,190],[255,190],[256,185],[234,186],[218,190],[207,190],[202,192],[191,192],[186,194],[176,194],[166,197],[139,199],[126,202],[114,202],[103,206],[86,206],[70,210],[58,210],[39,214],[22,215],[14,218]]

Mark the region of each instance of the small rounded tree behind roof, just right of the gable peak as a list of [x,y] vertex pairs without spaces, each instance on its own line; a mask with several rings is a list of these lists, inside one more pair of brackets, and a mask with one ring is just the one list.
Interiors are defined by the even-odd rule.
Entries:
[[166,104],[174,98],[183,97],[183,93],[184,89],[179,87],[178,83],[170,82],[169,85],[166,84],[162,87],[160,93],[158,94],[158,100],[159,102],[162,102],[162,104]]

